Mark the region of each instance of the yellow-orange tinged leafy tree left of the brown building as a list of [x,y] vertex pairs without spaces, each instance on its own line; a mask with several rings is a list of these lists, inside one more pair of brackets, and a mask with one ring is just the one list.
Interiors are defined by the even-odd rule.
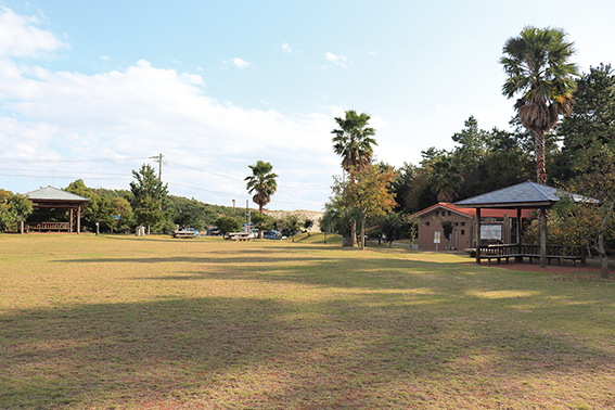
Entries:
[[341,195],[347,206],[357,208],[361,218],[361,238],[359,246],[366,246],[366,222],[371,216],[381,216],[396,205],[395,193],[388,191],[395,174],[393,169],[383,171],[380,167],[368,165],[351,167],[346,182],[336,181],[334,191]]

